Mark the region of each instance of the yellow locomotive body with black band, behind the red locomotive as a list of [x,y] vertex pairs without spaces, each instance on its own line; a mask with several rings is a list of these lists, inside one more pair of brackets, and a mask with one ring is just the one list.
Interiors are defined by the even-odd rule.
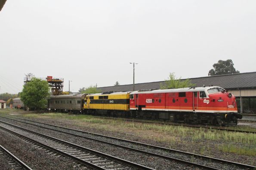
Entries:
[[87,95],[84,110],[130,110],[130,92],[96,93]]

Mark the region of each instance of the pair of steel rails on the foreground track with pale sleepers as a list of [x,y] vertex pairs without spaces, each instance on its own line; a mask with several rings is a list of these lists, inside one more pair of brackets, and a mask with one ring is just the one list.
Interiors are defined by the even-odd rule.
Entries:
[[[102,153],[102,152],[98,152],[98,151],[95,151],[95,150],[92,150],[92,149],[89,149],[89,148],[86,148],[86,147],[83,147],[83,146],[79,146],[79,145],[76,145],[76,144],[74,144],[74,143],[67,142],[67,141],[65,141],[65,140],[60,140],[60,139],[57,139],[57,138],[55,138],[55,137],[51,137],[51,136],[48,136],[48,135],[45,135],[45,134],[38,133],[38,132],[36,132],[36,131],[31,131],[31,130],[29,130],[29,129],[22,128],[22,127],[20,127],[20,126],[13,125],[13,124],[8,123],[8,122],[4,122],[4,121],[1,121],[1,120],[0,120],[0,122],[4,123],[4,124],[6,124],[6,125],[12,126],[12,127],[14,127],[14,128],[20,129],[20,130],[22,130],[22,131],[27,131],[28,133],[36,134],[36,135],[41,136],[41,137],[43,137],[43,138],[50,139],[50,140],[53,140],[53,141],[57,141],[57,142],[59,142],[59,143],[61,143],[61,144],[67,145],[67,146],[71,146],[71,147],[73,147],[73,148],[75,148],[75,149],[80,149],[80,150],[83,150],[83,151],[86,151],[86,152],[90,152],[90,153],[93,153],[93,154],[96,154],[96,155],[100,155],[100,156],[102,156],[102,157],[104,157],[104,158],[107,158],[107,159],[110,159],[110,160],[113,160],[113,161],[117,161],[117,162],[119,162],[119,163],[126,164],[126,166],[128,165],[128,166],[130,166],[130,167],[134,167],[134,168],[137,168],[137,169],[139,169],[139,170],[154,170],[154,169],[152,169],[152,168],[150,168],[150,167],[145,167],[145,166],[143,166],[143,165],[136,164],[136,163],[133,163],[133,162],[130,162],[130,161],[126,161],[126,160],[124,160],[124,159],[117,158],[117,157],[114,157],[114,156],[111,156],[111,155],[108,155],[108,154],[105,154],[105,153]],[[41,145],[41,146],[43,146],[43,147],[46,147],[46,148],[48,148],[48,149],[51,149],[51,150],[53,150],[53,151],[55,151],[55,152],[59,152],[59,153],[61,153],[62,155],[66,155],[66,156],[68,156],[68,157],[70,157],[70,158],[73,158],[73,159],[79,161],[80,163],[83,163],[83,164],[88,165],[89,167],[93,167],[93,168],[95,168],[95,169],[97,169],[97,170],[107,170],[107,169],[105,169],[105,168],[99,167],[99,166],[96,165],[96,164],[92,164],[92,163],[90,163],[90,162],[88,162],[88,161],[84,161],[83,159],[80,159],[80,158],[75,157],[75,156],[73,156],[73,155],[71,155],[71,154],[68,154],[67,152],[61,151],[61,150],[59,150],[59,149],[55,149],[55,148],[53,148],[53,147],[51,147],[51,146],[48,146],[48,145],[46,145],[46,144],[43,144],[43,143],[37,141],[37,140],[31,139],[30,137],[26,137],[26,136],[24,136],[24,135],[22,135],[22,134],[19,134],[19,133],[15,132],[15,131],[12,131],[12,130],[8,129],[8,128],[4,128],[4,127],[2,127],[2,126],[0,126],[0,128],[4,129],[4,130],[6,130],[6,131],[9,131],[9,132],[11,132],[12,134],[16,134],[16,135],[18,135],[18,136],[20,136],[20,137],[23,137],[23,138],[25,138],[25,139],[27,139],[27,140],[30,140],[30,141],[32,141],[32,142],[34,142],[34,143],[37,143],[37,144],[39,144],[39,145]]]

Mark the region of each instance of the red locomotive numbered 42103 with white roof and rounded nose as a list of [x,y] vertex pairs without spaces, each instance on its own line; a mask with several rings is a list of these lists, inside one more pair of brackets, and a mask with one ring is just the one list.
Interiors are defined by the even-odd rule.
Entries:
[[236,125],[242,118],[234,95],[218,86],[131,92],[130,110],[145,119],[217,125]]

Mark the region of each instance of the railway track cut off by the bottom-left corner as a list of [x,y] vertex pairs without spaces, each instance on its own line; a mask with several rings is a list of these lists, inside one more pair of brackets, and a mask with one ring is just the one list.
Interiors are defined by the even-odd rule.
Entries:
[[12,170],[32,170],[28,165],[0,145],[0,156],[6,159],[6,163]]

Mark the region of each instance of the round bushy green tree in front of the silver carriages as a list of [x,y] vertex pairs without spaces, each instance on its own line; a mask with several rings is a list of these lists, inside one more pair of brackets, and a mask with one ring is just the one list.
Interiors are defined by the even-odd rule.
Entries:
[[24,105],[30,108],[45,108],[47,99],[50,96],[50,87],[47,81],[38,78],[32,78],[23,86],[20,94]]

